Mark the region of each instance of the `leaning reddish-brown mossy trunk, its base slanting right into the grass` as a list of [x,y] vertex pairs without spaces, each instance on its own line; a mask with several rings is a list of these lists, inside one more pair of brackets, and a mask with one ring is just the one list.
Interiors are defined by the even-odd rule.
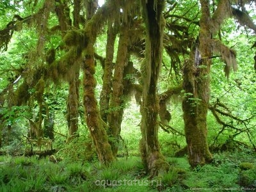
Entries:
[[108,134],[106,132],[106,123],[100,118],[100,111],[97,106],[97,99],[95,96],[96,79],[95,74],[95,60],[94,47],[96,36],[92,25],[92,15],[97,9],[97,0],[86,1],[86,18],[88,20],[88,46],[86,47],[86,54],[83,62],[83,104],[86,118],[86,124],[90,131],[92,141],[97,152],[100,163],[109,164],[113,161],[113,154],[111,145],[108,141]]

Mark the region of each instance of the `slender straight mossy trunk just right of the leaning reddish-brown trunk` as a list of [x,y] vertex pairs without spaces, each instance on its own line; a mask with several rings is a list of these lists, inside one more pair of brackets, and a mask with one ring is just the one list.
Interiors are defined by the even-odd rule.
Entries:
[[112,95],[109,102],[109,141],[113,156],[116,157],[118,151],[118,141],[120,140],[120,131],[122,117],[124,114],[124,67],[127,63],[127,47],[129,43],[129,29],[124,24],[120,29],[120,37],[118,42],[118,50],[115,63],[115,72],[112,81]]

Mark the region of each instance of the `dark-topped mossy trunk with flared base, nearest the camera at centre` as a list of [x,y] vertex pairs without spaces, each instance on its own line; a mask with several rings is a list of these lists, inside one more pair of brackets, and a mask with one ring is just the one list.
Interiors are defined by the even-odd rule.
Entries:
[[162,61],[163,48],[163,7],[164,1],[148,0],[143,2],[143,17],[146,24],[146,51],[143,63],[143,100],[141,104],[140,150],[142,161],[151,177],[166,172],[166,163],[160,152],[158,142],[157,115],[159,100],[157,97],[157,80]]

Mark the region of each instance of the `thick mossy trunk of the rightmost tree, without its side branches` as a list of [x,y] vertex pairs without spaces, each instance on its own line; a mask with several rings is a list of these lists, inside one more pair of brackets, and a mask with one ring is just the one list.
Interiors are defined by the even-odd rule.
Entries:
[[[211,68],[211,41],[209,1],[202,0],[199,45],[193,60],[185,63],[182,102],[189,164],[192,167],[212,160],[207,144],[207,110],[209,104],[209,73]],[[196,50],[197,51],[197,50]]]

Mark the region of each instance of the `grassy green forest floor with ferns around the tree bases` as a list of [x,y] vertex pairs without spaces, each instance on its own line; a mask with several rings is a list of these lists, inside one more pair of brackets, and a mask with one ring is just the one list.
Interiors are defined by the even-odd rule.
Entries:
[[109,167],[55,156],[0,156],[0,191],[255,191],[255,157],[222,152],[194,169],[186,157],[168,157],[170,172],[149,180],[138,156],[119,157]]

